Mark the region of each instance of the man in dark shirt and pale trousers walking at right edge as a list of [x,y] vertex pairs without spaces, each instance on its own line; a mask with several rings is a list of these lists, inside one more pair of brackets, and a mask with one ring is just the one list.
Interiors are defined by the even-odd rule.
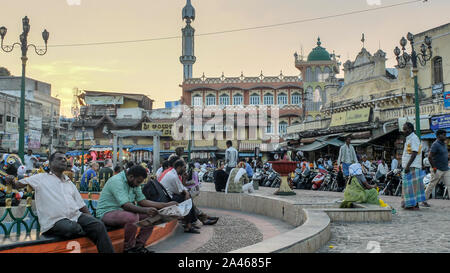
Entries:
[[[431,145],[428,159],[430,160],[431,180],[425,191],[425,198],[429,198],[431,191],[436,187],[437,183],[443,179],[447,189],[450,189],[450,172],[448,167],[448,149],[447,149],[447,132],[439,129],[436,132],[436,141]],[[425,201],[424,207],[430,205]]]

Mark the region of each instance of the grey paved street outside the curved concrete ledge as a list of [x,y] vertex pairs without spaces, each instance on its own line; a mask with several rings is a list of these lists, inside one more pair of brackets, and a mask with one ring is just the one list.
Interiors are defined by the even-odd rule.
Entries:
[[[203,184],[211,189],[211,184]],[[273,188],[260,187],[257,194],[274,196]],[[295,190],[297,195],[278,196],[298,204],[334,202],[343,193]],[[450,252],[450,200],[430,200],[431,208],[405,211],[400,197],[381,196],[397,213],[386,223],[332,223],[331,240],[318,252]],[[333,248],[330,248],[333,246]],[[379,246],[379,248],[378,248]]]

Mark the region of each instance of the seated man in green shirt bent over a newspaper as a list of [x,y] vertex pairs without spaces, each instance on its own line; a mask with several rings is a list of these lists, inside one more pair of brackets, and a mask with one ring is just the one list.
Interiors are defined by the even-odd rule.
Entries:
[[105,225],[124,227],[124,252],[148,253],[145,243],[153,227],[141,228],[137,233],[136,222],[158,214],[158,209],[176,205],[177,202],[159,203],[146,200],[140,185],[147,178],[147,171],[142,166],[131,167],[108,180],[97,206],[97,217]]

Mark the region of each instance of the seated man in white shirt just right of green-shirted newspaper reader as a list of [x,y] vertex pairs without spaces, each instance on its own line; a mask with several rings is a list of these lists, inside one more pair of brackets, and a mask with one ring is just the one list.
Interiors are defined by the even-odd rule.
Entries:
[[[180,176],[182,176],[186,172],[186,163],[184,163],[183,159],[178,159],[174,165],[173,169],[170,170],[162,179],[161,185],[164,186],[170,198],[173,201],[178,203],[184,202],[191,198],[189,195],[188,189],[183,186],[180,180]],[[194,203],[192,203],[192,209],[189,211],[189,214],[183,218],[184,222],[184,232],[186,233],[196,233],[200,232],[193,227],[193,223],[197,221],[197,215],[195,213],[196,208]]]

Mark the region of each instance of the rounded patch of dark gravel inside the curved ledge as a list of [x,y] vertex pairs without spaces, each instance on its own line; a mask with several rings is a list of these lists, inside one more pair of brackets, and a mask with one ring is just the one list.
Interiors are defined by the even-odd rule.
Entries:
[[255,224],[242,218],[223,215],[214,225],[212,238],[193,253],[226,253],[262,240],[263,235]]

